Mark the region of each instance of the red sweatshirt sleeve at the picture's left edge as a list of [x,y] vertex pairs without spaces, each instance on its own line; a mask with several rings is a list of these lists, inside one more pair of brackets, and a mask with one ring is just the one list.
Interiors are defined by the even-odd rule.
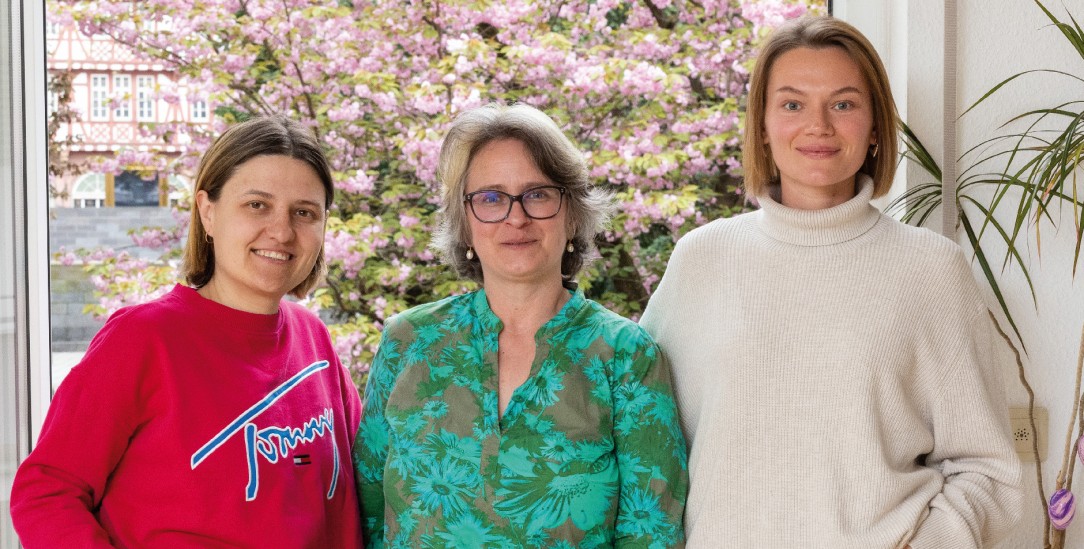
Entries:
[[139,330],[112,319],[49,407],[37,446],[15,473],[11,515],[27,549],[112,547],[96,518],[111,474],[146,410]]

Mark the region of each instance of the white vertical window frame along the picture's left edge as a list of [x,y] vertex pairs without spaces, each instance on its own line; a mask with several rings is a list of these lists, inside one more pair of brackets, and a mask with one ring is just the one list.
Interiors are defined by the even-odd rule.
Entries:
[[[0,246],[0,303],[13,346],[0,345],[3,483],[7,509],[14,463],[41,431],[52,396],[49,342],[49,191],[44,2],[0,2],[0,195],[8,231]],[[7,221],[11,221],[9,225]],[[11,279],[14,277],[14,280]],[[12,310],[13,309],[13,310]],[[14,455],[14,456],[13,456]],[[17,461],[16,461],[17,462]],[[17,547],[8,516],[0,546]]]

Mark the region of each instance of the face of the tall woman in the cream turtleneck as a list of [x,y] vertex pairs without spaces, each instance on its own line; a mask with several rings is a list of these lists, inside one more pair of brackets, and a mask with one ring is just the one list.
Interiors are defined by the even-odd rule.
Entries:
[[764,108],[764,143],[779,169],[784,205],[820,209],[854,196],[854,176],[877,137],[869,86],[843,49],[779,55]]

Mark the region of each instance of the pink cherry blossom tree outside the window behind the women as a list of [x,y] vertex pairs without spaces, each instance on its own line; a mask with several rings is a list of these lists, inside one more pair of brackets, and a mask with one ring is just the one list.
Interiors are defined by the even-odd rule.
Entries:
[[[385,319],[473,288],[427,247],[437,154],[456,113],[528,103],[580,144],[620,203],[580,283],[635,317],[678,238],[746,208],[738,143],[753,49],[784,20],[823,11],[811,3],[822,2],[59,0],[54,17],[172,67],[178,86],[218,105],[216,131],[264,113],[312,126],[337,193],[331,272],[309,305],[361,382]],[[145,131],[184,153],[126,151],[103,167],[191,173],[212,138],[181,124]],[[183,221],[140,238],[176,259],[182,235]],[[176,260],[95,254],[99,314],[177,280]]]

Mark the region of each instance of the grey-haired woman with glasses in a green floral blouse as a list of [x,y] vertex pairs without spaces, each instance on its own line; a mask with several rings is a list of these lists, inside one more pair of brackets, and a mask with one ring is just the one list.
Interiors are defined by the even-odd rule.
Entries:
[[370,547],[680,547],[670,371],[572,278],[611,209],[546,115],[487,105],[440,151],[435,246],[482,290],[391,318],[354,447]]

